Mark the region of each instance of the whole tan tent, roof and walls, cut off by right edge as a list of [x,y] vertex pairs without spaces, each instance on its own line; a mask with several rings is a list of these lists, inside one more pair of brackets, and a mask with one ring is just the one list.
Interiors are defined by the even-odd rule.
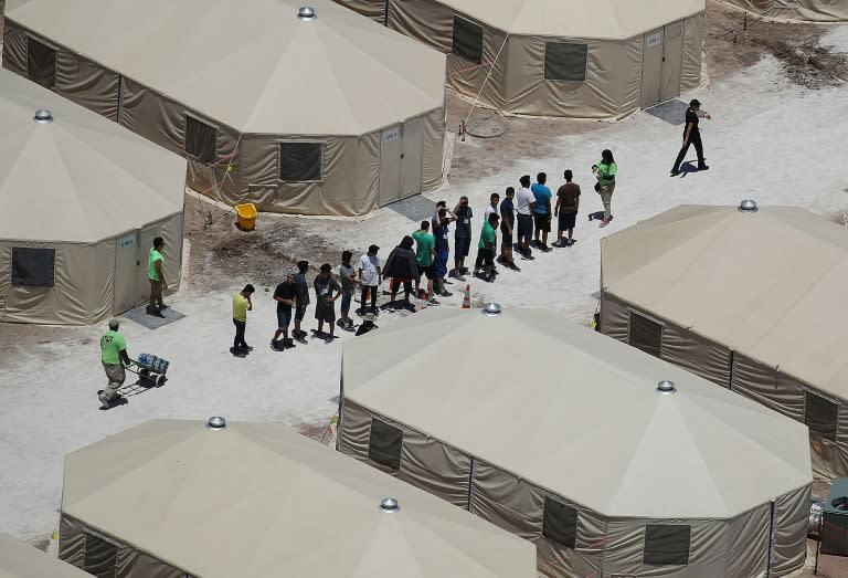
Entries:
[[848,475],[848,232],[797,207],[683,206],[605,238],[606,335],[809,425]]

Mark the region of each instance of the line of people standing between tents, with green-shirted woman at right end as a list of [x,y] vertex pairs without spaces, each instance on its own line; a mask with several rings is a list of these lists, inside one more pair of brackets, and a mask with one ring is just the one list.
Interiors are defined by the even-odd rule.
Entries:
[[[597,219],[600,227],[606,227],[613,219],[612,196],[615,190],[617,166],[611,150],[601,155],[601,160],[592,166],[595,176],[595,191],[601,196],[603,211],[590,213],[589,220]],[[492,193],[489,204],[484,211],[483,227],[477,242],[477,255],[474,262],[473,275],[491,283],[498,275],[500,264],[506,269],[520,272],[515,262],[515,253],[523,260],[532,260],[533,249],[542,252],[554,248],[572,246],[576,216],[580,210],[580,186],[574,182],[573,172],[563,172],[564,182],[556,191],[555,201],[548,187],[548,176],[537,175],[531,183],[529,175],[519,179],[519,189],[508,187],[504,200],[500,195]],[[390,301],[384,305],[388,311],[395,307],[415,311],[410,298],[413,292],[420,302],[427,305],[438,305],[436,297],[452,295],[446,285],[448,279],[466,281],[469,269],[466,266],[471,249],[471,220],[474,210],[468,198],[463,196],[453,210],[445,201],[436,203],[435,214],[430,220],[421,221],[417,230],[404,235],[385,260],[378,256],[380,248],[369,246],[368,252],[360,256],[353,265],[351,251],[341,253],[341,264],[337,275],[332,266],[324,263],[312,281],[315,292],[315,318],[318,328],[312,329],[312,337],[327,343],[332,341],[336,327],[361,335],[377,328],[375,317],[380,314],[378,295],[383,279],[390,279]],[[556,219],[556,241],[548,244],[552,221]],[[448,269],[451,256],[449,233],[454,231],[453,269]],[[498,254],[497,232],[500,231],[500,253]],[[310,291],[306,280],[309,270],[307,261],[299,261],[296,267],[285,273],[285,280],[277,285],[273,298],[276,302],[277,329],[271,339],[271,348],[282,351],[295,347],[295,340],[307,343],[307,333],[301,324],[306,308],[310,304]],[[422,283],[422,281],[424,282]],[[398,294],[403,290],[403,299],[398,302]],[[253,348],[244,341],[247,312],[253,308],[253,285],[246,285],[233,296],[233,324],[235,337],[230,351],[239,357],[246,356]],[[350,317],[353,297],[360,294],[359,311],[363,323],[357,326]],[[341,299],[341,315],[336,318],[336,301]],[[294,329],[289,337],[289,325],[294,320]],[[325,332],[325,324],[327,332]]]

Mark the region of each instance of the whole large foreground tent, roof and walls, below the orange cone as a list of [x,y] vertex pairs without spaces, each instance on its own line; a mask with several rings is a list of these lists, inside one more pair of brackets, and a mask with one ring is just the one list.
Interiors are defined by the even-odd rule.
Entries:
[[340,451],[533,542],[547,576],[804,564],[806,427],[551,311],[430,308],[348,343],[340,404]]

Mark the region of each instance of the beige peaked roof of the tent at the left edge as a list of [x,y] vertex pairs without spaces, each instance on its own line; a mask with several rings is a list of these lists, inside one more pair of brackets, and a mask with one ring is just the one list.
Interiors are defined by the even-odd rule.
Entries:
[[3,239],[95,242],[182,210],[184,159],[6,70],[0,120]]

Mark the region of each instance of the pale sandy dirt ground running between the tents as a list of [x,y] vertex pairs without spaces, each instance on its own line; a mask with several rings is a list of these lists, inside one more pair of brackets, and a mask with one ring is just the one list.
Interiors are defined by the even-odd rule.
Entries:
[[[502,271],[486,284],[469,277],[477,301],[506,307],[543,307],[587,324],[600,283],[598,241],[642,219],[681,203],[796,204],[837,222],[848,214],[848,85],[845,53],[848,25],[765,23],[710,3],[704,82],[681,95],[697,97],[712,120],[702,122],[707,172],[669,178],[681,127],[638,113],[615,123],[506,118],[451,95],[448,123],[469,113],[473,134],[452,136],[446,183],[426,193],[453,204],[466,195],[481,216],[491,192],[518,186],[518,178],[547,171],[558,186],[571,168],[583,186],[581,214],[571,249],[520,261],[522,272]],[[590,167],[611,148],[619,166],[613,198],[615,220],[598,229],[585,219],[600,210]],[[690,160],[693,159],[693,151]],[[336,411],[343,333],[330,345],[310,341],[274,353],[271,292],[288,264],[308,259],[312,266],[338,265],[342,249],[359,255],[371,243],[385,258],[416,223],[391,209],[357,219],[307,219],[261,214],[256,231],[233,227],[234,214],[187,196],[188,261],[179,293],[170,304],[186,318],[156,330],[125,322],[130,355],[152,353],[171,360],[169,382],[98,410],[96,391],[105,386],[97,339],[103,327],[62,328],[0,325],[0,532],[35,540],[57,522],[64,454],[152,418],[271,420],[320,438]],[[480,225],[474,224],[475,235]],[[452,243],[453,244],[453,243]],[[471,251],[471,258],[476,251]],[[315,270],[315,269],[314,269]],[[247,323],[246,359],[230,356],[233,326],[230,302],[245,282],[258,293]],[[443,307],[462,304],[459,285]],[[383,313],[378,324],[407,313]],[[312,312],[307,327],[315,327]],[[506,353],[509,355],[509,353]],[[449,360],[445,360],[449,362]],[[825,490],[822,492],[826,492]],[[848,576],[839,560],[823,558],[825,576]],[[830,572],[830,574],[827,574]],[[841,572],[841,574],[840,574]]]

